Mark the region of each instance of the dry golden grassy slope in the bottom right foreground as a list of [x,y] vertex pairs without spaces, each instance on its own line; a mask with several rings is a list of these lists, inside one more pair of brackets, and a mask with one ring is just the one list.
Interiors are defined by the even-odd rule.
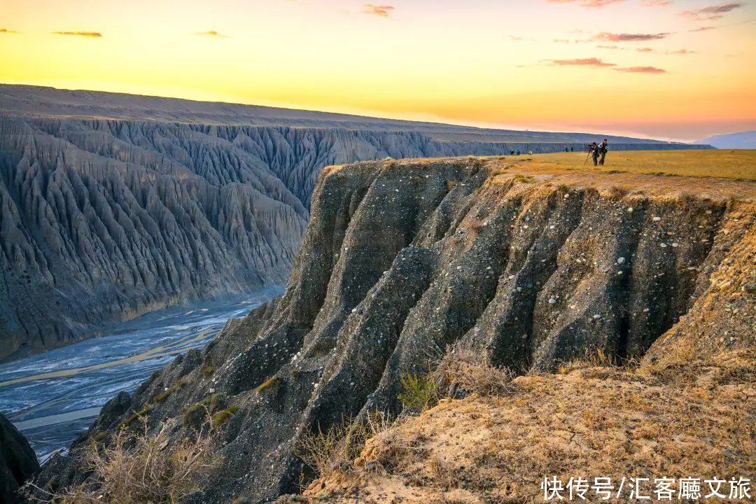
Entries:
[[305,496],[341,504],[542,502],[544,475],[752,474],[752,351],[565,373],[521,376],[503,397],[442,400],[367,441],[351,471],[316,481]]

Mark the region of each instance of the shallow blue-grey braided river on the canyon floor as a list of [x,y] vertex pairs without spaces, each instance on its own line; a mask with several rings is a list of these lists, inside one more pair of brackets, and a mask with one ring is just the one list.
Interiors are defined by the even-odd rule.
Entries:
[[0,411],[26,435],[40,461],[67,449],[119,391],[206,345],[231,317],[281,288],[154,311],[110,327],[107,335],[0,364]]

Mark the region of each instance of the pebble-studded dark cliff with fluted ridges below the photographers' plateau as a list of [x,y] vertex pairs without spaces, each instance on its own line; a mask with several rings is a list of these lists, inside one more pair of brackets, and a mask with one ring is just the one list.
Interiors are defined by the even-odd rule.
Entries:
[[[398,413],[401,377],[426,372],[445,345],[480,345],[519,372],[587,350],[641,356],[702,296],[745,292],[739,280],[711,284],[721,264],[752,276],[753,185],[714,180],[699,190],[716,197],[674,189],[688,183],[699,184],[584,181],[475,158],[326,169],[286,292],[113,400],[39,484],[85,481],[86,438],[107,440],[135,413],[152,428],[176,419],[180,439],[199,425],[191,405],[204,401],[211,413],[238,410],[215,431],[224,462],[192,502],[268,502],[299,488],[303,433],[375,409]],[[753,320],[745,294],[712,331]],[[721,348],[756,343],[752,331],[730,334]]]

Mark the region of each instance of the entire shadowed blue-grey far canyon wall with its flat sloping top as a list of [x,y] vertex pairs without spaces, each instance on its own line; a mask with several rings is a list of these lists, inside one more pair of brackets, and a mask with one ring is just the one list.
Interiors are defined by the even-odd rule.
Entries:
[[32,86],[0,111],[0,360],[285,283],[325,165],[593,139]]

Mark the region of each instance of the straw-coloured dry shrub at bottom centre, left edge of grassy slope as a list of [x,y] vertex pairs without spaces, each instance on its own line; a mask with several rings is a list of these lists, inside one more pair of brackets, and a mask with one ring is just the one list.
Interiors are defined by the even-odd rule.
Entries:
[[318,427],[317,432],[302,435],[297,453],[318,478],[327,478],[333,472],[348,470],[365,441],[386,431],[391,424],[385,414],[376,411],[364,420],[345,420],[325,432]]

